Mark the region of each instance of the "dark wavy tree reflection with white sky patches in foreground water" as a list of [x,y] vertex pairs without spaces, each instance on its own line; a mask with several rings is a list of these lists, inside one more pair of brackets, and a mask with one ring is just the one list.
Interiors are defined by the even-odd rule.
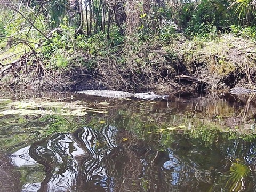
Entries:
[[[29,170],[22,191],[252,191],[255,142],[217,136],[220,142],[206,147],[173,133],[161,151],[164,146],[124,129],[83,127],[22,148],[10,162],[26,169],[42,165]],[[44,175],[41,183],[29,179],[33,174]]]

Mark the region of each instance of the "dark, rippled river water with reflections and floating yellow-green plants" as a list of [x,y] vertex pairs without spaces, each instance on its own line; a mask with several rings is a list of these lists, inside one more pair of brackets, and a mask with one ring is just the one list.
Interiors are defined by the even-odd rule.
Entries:
[[0,94],[0,191],[256,191],[254,95]]

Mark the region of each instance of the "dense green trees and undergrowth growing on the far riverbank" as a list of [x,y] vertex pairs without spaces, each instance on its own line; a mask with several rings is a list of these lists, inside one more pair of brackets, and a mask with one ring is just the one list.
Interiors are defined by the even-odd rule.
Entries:
[[[232,62],[234,55],[210,51],[205,58],[198,55],[195,58],[193,51],[205,49],[205,43],[218,44],[227,39],[220,40],[223,34],[232,34],[228,40],[231,42],[237,42],[236,37],[253,42],[256,4],[252,0],[1,0],[0,4],[0,49],[4,55],[0,62],[7,65],[30,53],[25,62],[37,69],[33,75],[94,74],[100,78],[99,82],[113,89],[147,88],[175,75],[198,78],[212,75],[200,75],[198,69],[209,62],[200,60],[214,56],[221,66],[218,75],[222,81],[208,79],[211,86],[220,88],[223,82],[229,86],[237,74],[238,78],[250,77],[251,83],[249,64],[254,66],[255,55],[249,58],[252,63],[242,63],[241,68],[237,64],[241,58]],[[216,66],[206,68],[213,68],[211,73],[215,68],[219,70]],[[242,74],[237,68],[241,68]],[[31,75],[31,70],[22,66],[15,71],[22,71],[22,77],[24,71]],[[14,74],[4,81],[11,79],[15,86],[20,82],[16,78]],[[77,85],[78,80],[81,79],[73,79],[73,84]]]

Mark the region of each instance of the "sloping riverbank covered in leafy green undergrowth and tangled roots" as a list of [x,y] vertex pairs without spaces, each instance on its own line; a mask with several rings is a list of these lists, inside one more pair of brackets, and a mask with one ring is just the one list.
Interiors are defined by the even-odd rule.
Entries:
[[137,34],[109,41],[104,34],[75,38],[73,28],[63,26],[61,31],[51,43],[10,61],[9,68],[1,67],[0,84],[14,89],[155,90],[177,95],[253,87],[255,82],[252,39],[231,34],[189,39],[176,34],[163,41],[161,36]]

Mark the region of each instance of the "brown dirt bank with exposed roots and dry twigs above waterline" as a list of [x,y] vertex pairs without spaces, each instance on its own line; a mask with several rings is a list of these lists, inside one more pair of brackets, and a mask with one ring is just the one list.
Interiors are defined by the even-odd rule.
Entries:
[[85,55],[94,66],[73,64],[49,68],[30,52],[0,66],[0,85],[12,89],[108,89],[169,94],[200,94],[235,86],[253,87],[256,77],[255,42],[222,35],[211,40],[175,38],[170,44],[127,43],[118,52]]

